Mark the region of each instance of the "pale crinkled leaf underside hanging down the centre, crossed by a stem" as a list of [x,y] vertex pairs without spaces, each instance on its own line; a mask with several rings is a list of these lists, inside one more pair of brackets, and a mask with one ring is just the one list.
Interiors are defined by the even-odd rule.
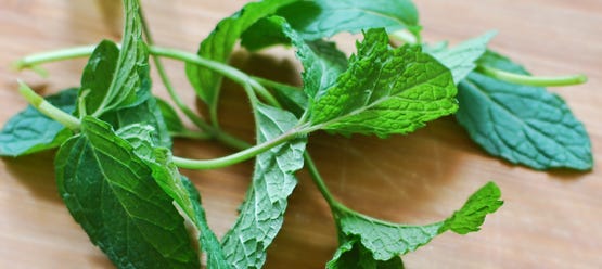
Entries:
[[[258,143],[290,130],[295,116],[274,107],[257,104]],[[222,239],[228,261],[234,268],[260,268],[266,251],[282,227],[286,198],[297,180],[294,172],[303,167],[306,138],[286,142],[257,156],[249,191],[236,222]]]

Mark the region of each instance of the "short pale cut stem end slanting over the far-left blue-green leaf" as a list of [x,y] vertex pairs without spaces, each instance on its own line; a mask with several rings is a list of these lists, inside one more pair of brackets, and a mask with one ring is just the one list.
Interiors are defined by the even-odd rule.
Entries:
[[81,125],[79,119],[47,102],[42,97],[38,95],[38,93],[21,80],[18,80],[18,92],[40,113],[72,130],[79,129],[79,126]]

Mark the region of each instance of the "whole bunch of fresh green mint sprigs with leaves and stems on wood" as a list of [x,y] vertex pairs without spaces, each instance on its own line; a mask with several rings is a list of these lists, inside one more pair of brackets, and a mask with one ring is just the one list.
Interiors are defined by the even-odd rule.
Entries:
[[[449,218],[424,226],[392,223],[348,208],[328,190],[310,154],[315,131],[387,138],[456,115],[491,155],[534,169],[592,167],[582,125],[547,86],[585,82],[581,75],[534,77],[487,48],[495,33],[450,48],[421,39],[411,1],[251,2],[223,18],[197,53],[156,47],[139,2],[124,0],[120,44],[72,48],[27,56],[18,68],[89,56],[81,85],[41,98],[20,82],[31,103],[4,126],[0,155],[59,149],[56,183],[74,219],[119,268],[260,268],[278,234],[295,172],[307,168],[326,200],[340,245],[328,268],[402,268],[400,255],[453,231],[477,231],[501,205],[489,182]],[[353,9],[350,9],[353,8]],[[361,33],[347,57],[328,38]],[[392,46],[392,41],[404,43]],[[229,66],[240,44],[258,51],[293,47],[303,88],[249,76]],[[172,103],[153,95],[150,57]],[[208,107],[188,107],[163,71],[161,57],[187,63],[188,78]],[[256,144],[220,128],[222,78],[240,84],[256,125]],[[181,111],[198,130],[178,117]],[[236,153],[215,159],[174,156],[174,138],[213,139]],[[214,169],[255,158],[240,216],[222,239],[209,229],[201,195],[179,168]]]

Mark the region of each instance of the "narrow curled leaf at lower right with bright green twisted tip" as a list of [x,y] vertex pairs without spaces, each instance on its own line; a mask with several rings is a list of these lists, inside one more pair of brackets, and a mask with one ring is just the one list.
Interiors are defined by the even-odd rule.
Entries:
[[[460,234],[477,231],[485,216],[496,212],[503,204],[499,200],[500,196],[499,188],[489,182],[471,195],[464,206],[451,217],[426,226],[392,223],[338,206],[335,210],[335,220],[340,227],[340,236],[346,240],[346,243],[343,243],[329,264],[349,262],[354,258],[358,260],[357,264],[368,262],[371,259],[368,258],[366,261],[366,252],[371,253],[375,260],[390,261],[398,255],[415,251],[448,230]],[[361,247],[353,247],[356,249],[355,257],[348,257],[353,254],[349,252],[355,241],[361,243]]]

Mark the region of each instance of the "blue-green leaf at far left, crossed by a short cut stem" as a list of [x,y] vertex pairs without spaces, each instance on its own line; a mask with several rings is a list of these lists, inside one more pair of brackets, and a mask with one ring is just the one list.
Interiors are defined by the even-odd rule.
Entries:
[[[77,89],[63,90],[47,101],[66,113],[73,113]],[[57,148],[73,132],[29,105],[14,115],[0,132],[0,156],[17,157]]]

